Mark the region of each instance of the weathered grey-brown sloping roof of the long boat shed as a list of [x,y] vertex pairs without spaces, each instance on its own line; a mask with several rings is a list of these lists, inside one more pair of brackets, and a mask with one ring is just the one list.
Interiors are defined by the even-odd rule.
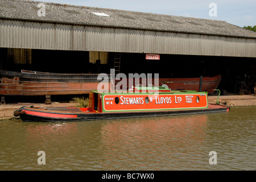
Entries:
[[[46,16],[38,16],[37,12],[39,8],[37,5],[39,3],[46,5]],[[97,14],[102,14],[102,16]],[[109,16],[105,16],[104,14]],[[220,20],[139,13],[39,1],[1,0],[0,18],[256,38],[256,32]]]

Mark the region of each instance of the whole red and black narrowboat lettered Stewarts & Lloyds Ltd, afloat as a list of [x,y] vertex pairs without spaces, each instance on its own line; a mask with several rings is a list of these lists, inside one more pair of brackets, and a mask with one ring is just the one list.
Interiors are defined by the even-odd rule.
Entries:
[[89,107],[24,106],[15,110],[14,116],[27,122],[65,122],[215,113],[230,109],[229,106],[209,105],[207,92],[170,90],[165,87],[150,89],[135,87],[132,93],[91,91]]

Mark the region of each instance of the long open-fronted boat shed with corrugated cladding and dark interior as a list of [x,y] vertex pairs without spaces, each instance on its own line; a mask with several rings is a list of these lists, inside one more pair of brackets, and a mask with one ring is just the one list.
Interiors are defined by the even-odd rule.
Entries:
[[0,1],[0,53],[4,70],[221,74],[226,90],[256,75],[256,32],[225,21],[37,1]]

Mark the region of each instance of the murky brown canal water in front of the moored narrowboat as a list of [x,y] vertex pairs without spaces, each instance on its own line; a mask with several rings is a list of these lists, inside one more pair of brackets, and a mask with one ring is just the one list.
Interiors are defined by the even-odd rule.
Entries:
[[255,170],[255,111],[247,106],[105,121],[4,120],[0,170]]

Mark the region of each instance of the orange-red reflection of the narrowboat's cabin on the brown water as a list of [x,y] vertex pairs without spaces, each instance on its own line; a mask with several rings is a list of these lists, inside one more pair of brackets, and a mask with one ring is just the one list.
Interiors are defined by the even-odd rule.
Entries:
[[176,140],[180,146],[192,141],[203,142],[206,122],[206,114],[107,121],[101,129],[102,143],[109,150],[115,148],[113,146],[126,146],[130,150],[137,144],[153,144],[159,138],[166,142]]

